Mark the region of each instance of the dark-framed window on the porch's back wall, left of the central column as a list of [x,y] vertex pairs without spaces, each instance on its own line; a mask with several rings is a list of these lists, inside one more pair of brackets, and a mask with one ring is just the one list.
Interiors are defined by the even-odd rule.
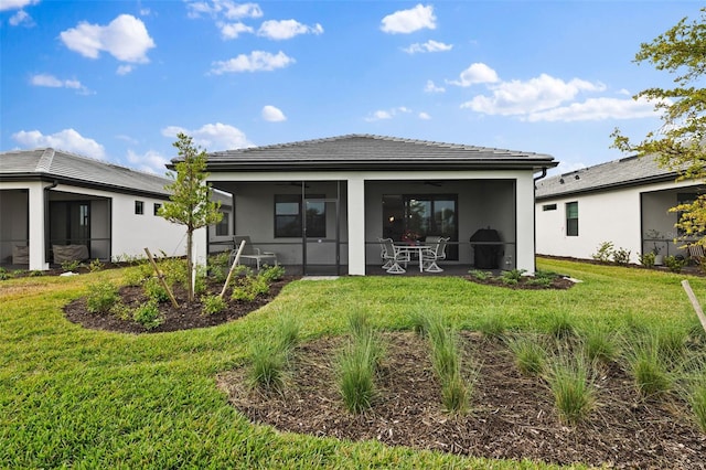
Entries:
[[[311,199],[323,199],[323,195],[309,195]],[[275,237],[293,238],[302,236],[301,226],[301,195],[277,194],[275,195]],[[327,236],[325,203],[307,203],[307,236]]]

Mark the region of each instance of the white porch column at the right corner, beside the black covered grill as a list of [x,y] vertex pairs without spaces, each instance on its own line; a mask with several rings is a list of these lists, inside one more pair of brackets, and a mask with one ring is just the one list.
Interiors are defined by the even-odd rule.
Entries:
[[535,218],[534,218],[534,180],[532,175],[516,179],[515,201],[517,214],[517,269],[527,274],[535,271]]

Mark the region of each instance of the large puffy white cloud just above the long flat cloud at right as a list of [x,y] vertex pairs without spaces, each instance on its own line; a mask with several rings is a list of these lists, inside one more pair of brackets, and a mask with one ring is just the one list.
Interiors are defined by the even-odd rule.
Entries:
[[580,92],[602,92],[606,86],[579,78],[564,82],[542,74],[527,82],[511,81],[490,86],[492,95],[478,95],[461,105],[486,115],[527,115],[560,106]]

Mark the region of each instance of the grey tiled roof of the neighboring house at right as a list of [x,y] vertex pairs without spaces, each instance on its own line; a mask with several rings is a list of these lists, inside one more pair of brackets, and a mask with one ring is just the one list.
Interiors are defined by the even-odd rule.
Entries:
[[674,181],[677,172],[659,164],[655,156],[627,157],[538,180],[535,183],[537,200],[608,191],[624,186]]

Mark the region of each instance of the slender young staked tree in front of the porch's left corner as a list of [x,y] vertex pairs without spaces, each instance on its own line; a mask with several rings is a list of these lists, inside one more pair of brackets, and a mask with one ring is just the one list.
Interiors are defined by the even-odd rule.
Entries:
[[211,200],[211,185],[206,184],[206,152],[193,145],[191,137],[178,133],[173,146],[179,149],[180,161],[176,162],[176,174],[169,173],[174,180],[164,189],[171,192],[171,202],[159,209],[159,215],[174,224],[186,226],[186,290],[189,302],[194,300],[193,289],[193,234],[197,228],[216,224],[223,218],[221,203]]

